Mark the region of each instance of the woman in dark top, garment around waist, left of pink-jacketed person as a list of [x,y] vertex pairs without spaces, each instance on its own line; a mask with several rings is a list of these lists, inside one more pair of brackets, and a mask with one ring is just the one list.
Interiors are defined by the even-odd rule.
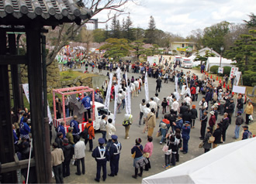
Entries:
[[[137,138],[135,140],[135,143],[136,145],[134,145],[133,148],[131,149],[132,157],[134,158],[133,167],[135,168],[135,175],[132,175],[132,177],[134,179],[137,179],[138,175],[142,177],[143,167],[145,165],[145,162],[143,157],[143,146],[140,145],[141,139]],[[138,174],[139,168],[140,168],[140,173]]]

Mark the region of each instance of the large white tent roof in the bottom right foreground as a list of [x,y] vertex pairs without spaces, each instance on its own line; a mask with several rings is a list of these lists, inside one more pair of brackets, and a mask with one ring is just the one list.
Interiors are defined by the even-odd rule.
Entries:
[[220,145],[142,183],[256,183],[255,152],[256,138]]

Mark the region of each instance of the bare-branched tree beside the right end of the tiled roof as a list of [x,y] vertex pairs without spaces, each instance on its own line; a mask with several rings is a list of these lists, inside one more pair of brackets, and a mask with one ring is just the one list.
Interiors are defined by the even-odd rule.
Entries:
[[[85,6],[88,7],[88,9],[92,10],[92,17],[97,15],[99,12],[107,11],[108,13],[106,20],[99,22],[104,23],[108,22],[114,16],[123,14],[125,10],[124,5],[127,2],[134,1],[136,0],[88,0],[83,2],[85,3]],[[83,22],[81,22],[80,26],[76,25],[75,23],[65,23],[60,26],[59,29],[57,29],[57,37],[54,40],[54,49],[50,50],[47,55],[47,66],[54,61],[57,53],[61,50],[61,48],[67,45],[69,41],[74,38],[81,26],[85,25],[88,20],[89,19],[85,19]]]

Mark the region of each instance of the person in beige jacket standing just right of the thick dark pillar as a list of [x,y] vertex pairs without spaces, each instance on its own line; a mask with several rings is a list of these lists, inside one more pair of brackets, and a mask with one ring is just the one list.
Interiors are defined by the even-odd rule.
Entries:
[[62,175],[62,162],[64,162],[64,154],[61,148],[58,148],[56,142],[53,143],[53,151],[50,152],[51,155],[51,166],[53,167],[54,176],[56,183],[64,183]]

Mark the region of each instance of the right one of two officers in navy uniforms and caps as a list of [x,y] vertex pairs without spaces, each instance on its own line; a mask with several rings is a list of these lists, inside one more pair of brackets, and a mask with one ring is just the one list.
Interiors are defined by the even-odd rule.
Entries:
[[111,173],[109,176],[115,176],[119,170],[119,158],[120,158],[120,151],[122,149],[122,145],[119,141],[117,141],[117,136],[112,135],[112,145],[109,148],[109,156],[110,156],[110,169]]

